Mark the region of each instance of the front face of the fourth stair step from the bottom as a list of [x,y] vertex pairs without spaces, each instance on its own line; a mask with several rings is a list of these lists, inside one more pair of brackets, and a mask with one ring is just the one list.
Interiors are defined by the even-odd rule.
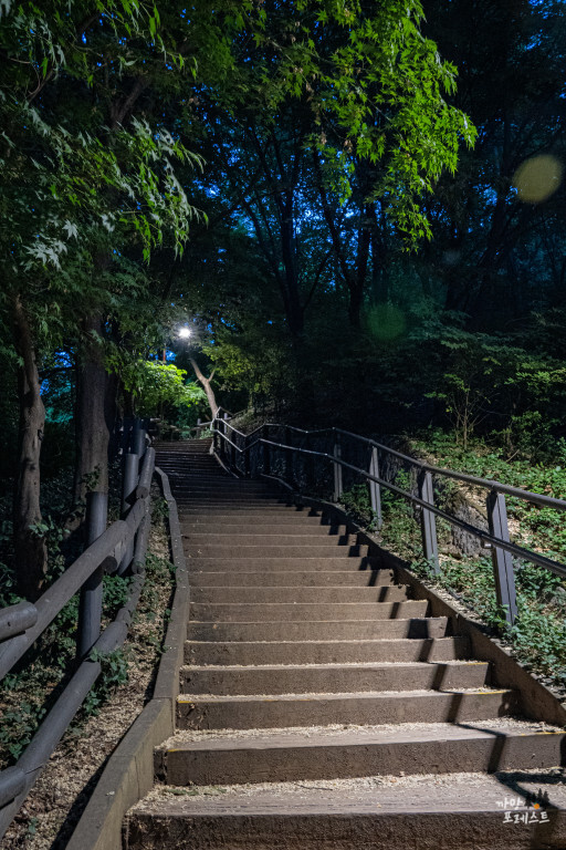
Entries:
[[482,661],[389,664],[265,664],[184,666],[181,691],[190,694],[308,694],[348,691],[412,691],[481,687],[489,663]]

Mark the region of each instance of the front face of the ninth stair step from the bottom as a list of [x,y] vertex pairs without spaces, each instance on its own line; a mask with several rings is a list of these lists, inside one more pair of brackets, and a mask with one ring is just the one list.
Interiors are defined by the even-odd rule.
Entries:
[[[200,561],[199,561],[200,564]],[[222,562],[217,561],[219,570]],[[224,564],[229,567],[230,564]],[[394,570],[329,570],[272,571],[270,567],[262,571],[243,572],[223,570],[222,572],[191,570],[191,588],[379,588],[395,584]]]

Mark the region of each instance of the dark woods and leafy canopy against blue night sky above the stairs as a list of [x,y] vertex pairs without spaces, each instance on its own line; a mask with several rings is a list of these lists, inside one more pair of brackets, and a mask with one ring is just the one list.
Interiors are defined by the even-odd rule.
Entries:
[[566,458],[562,2],[51,6],[0,32],[7,587],[116,421],[208,418],[191,360],[229,410]]

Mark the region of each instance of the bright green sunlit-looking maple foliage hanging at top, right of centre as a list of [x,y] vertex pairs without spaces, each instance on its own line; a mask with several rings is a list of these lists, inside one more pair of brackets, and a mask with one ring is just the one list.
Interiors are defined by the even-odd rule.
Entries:
[[409,247],[429,237],[420,198],[455,169],[459,146],[473,145],[475,128],[446,101],[455,69],[423,38],[421,3],[301,0],[270,9],[270,50],[253,58],[266,110],[275,116],[287,99],[307,103],[317,127],[311,144],[342,201],[353,190],[348,163],[379,165],[368,199],[387,201]]

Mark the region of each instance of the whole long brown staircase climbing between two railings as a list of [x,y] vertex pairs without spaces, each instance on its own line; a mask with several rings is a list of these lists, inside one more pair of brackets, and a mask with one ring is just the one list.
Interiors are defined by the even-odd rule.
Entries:
[[178,733],[127,848],[566,847],[556,808],[522,830],[503,808],[563,763],[563,730],[521,718],[348,528],[231,477],[209,446],[158,449],[191,610]]

